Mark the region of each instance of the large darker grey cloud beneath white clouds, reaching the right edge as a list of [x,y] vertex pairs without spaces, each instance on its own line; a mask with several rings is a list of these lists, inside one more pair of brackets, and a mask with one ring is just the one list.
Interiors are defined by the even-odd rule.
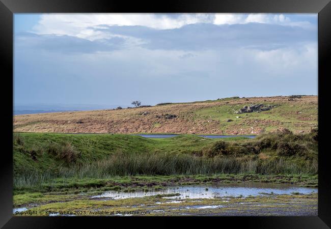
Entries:
[[96,30],[145,40],[147,42],[144,47],[149,49],[207,50],[234,46],[277,49],[293,46],[298,42],[317,40],[317,30],[262,23],[197,23],[172,30],[155,30],[144,26],[108,26]]

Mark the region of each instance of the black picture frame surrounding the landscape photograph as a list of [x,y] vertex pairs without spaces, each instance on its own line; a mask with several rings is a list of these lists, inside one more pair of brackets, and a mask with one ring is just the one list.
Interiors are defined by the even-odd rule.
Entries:
[[[243,225],[244,228],[328,228],[331,226],[330,187],[331,169],[326,148],[327,116],[327,84],[331,53],[331,3],[330,0],[168,0],[164,2],[119,0],[0,0],[0,57],[2,68],[2,98],[6,102],[2,116],[3,146],[0,159],[1,169],[1,202],[0,226],[4,228],[51,228],[66,226],[69,222],[104,223],[120,221],[124,225],[133,222],[135,225],[150,225],[151,220],[157,224],[171,222],[169,217],[13,217],[12,216],[12,118],[13,105],[13,14],[14,13],[318,13],[318,126],[319,138],[319,172],[318,172],[318,216],[310,217],[189,217],[193,223],[206,225],[231,226]],[[6,82],[5,82],[6,80]],[[152,219],[151,219],[152,218]],[[178,219],[179,217],[170,217]],[[180,217],[187,219],[187,217]],[[97,224],[95,224],[97,225]],[[106,224],[107,225],[107,224]],[[109,224],[108,224],[109,225]],[[114,224],[111,224],[113,226]]]

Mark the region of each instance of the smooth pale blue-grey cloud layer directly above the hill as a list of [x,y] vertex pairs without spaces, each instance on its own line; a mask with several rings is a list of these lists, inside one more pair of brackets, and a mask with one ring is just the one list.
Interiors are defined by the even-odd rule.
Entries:
[[[191,53],[189,58],[181,58]],[[146,104],[316,94],[316,45],[302,49],[15,51],[16,102]]]

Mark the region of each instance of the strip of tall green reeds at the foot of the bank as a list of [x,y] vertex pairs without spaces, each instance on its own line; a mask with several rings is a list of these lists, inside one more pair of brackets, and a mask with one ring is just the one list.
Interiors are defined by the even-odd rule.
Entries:
[[198,157],[187,154],[170,153],[116,153],[105,160],[72,167],[62,167],[59,175],[63,177],[101,178],[109,176],[136,175],[198,175],[198,174],[316,174],[316,165],[307,161],[275,158],[260,160],[256,158]]

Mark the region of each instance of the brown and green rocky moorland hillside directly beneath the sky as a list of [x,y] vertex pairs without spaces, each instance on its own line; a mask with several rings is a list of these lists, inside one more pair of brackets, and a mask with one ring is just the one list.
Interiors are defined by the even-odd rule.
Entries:
[[14,117],[14,131],[60,133],[259,134],[284,128],[302,133],[317,124],[317,96],[231,97]]

